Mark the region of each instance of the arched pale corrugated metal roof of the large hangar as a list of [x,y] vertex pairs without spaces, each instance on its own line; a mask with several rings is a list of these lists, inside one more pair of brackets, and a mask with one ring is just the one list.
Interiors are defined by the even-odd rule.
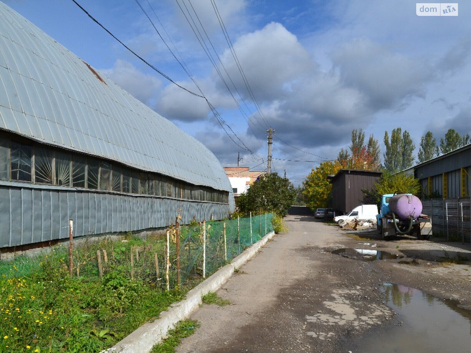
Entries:
[[0,128],[232,191],[202,143],[1,2]]

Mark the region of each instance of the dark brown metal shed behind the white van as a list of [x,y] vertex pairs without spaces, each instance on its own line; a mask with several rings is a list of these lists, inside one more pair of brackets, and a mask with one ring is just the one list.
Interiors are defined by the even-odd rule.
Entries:
[[381,175],[378,170],[340,169],[337,174],[327,176],[332,183],[335,213],[341,215],[363,204],[363,190],[371,190]]

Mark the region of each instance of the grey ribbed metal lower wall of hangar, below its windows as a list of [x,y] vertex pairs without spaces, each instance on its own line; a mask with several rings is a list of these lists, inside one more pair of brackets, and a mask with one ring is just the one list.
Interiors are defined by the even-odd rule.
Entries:
[[0,247],[227,217],[229,205],[128,194],[0,185]]

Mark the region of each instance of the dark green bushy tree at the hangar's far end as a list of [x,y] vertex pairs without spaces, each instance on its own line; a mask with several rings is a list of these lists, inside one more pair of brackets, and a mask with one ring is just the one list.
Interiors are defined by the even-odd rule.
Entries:
[[237,198],[236,205],[244,214],[275,212],[284,217],[296,194],[296,189],[287,178],[282,178],[278,173],[265,174]]

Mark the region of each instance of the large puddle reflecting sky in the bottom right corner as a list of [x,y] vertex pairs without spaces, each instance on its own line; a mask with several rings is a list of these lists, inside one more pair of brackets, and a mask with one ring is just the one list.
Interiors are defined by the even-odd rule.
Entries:
[[471,352],[471,312],[458,302],[441,300],[419,289],[385,283],[386,304],[399,315],[396,325],[346,342],[354,352]]

